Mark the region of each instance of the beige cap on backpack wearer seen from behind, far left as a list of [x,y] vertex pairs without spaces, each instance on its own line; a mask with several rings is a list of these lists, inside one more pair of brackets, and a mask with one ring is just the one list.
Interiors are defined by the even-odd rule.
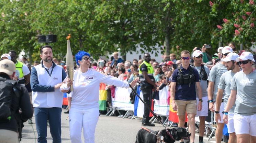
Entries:
[[13,61],[4,59],[0,61],[0,72],[12,75],[16,71],[16,67]]

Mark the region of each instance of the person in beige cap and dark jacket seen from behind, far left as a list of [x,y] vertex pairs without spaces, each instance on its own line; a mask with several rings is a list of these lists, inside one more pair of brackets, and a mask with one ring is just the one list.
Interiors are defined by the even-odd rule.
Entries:
[[[7,82],[15,76],[15,65],[9,59],[3,59],[0,61],[0,83]],[[8,81],[9,82],[9,81]],[[17,96],[12,96],[11,102],[11,118],[9,120],[0,121],[0,139],[4,143],[19,143],[18,141],[18,125],[20,120],[26,121],[33,116],[33,111],[30,106],[30,99],[27,89],[21,86],[19,83],[16,84],[15,89],[19,93]],[[4,88],[3,90],[8,90]],[[1,89],[2,93],[2,89]],[[13,93],[14,94],[14,93]],[[1,95],[2,96],[2,95]],[[2,98],[0,96],[0,98]],[[6,96],[6,95],[5,95]],[[21,109],[22,113],[19,113]]]

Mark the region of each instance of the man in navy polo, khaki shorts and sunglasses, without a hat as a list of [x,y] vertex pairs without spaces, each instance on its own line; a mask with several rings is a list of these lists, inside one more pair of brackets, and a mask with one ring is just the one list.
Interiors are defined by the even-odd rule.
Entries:
[[[184,127],[185,114],[187,111],[190,142],[194,142],[195,124],[194,119],[198,111],[202,110],[202,91],[199,83],[199,74],[196,69],[189,65],[190,53],[184,50],[180,53],[181,66],[174,70],[171,79],[171,106],[177,111],[179,118],[178,127]],[[199,102],[197,105],[196,89]],[[198,108],[197,108],[198,106]],[[181,140],[181,143],[183,141]]]

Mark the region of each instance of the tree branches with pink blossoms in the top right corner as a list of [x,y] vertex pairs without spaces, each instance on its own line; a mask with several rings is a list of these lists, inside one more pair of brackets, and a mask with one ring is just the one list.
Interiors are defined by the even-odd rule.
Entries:
[[[222,2],[224,0],[221,0]],[[231,38],[233,42],[243,43],[250,47],[255,42],[256,29],[254,27],[256,5],[253,0],[231,1],[231,17],[223,17],[222,24],[216,25],[215,34],[222,38]]]

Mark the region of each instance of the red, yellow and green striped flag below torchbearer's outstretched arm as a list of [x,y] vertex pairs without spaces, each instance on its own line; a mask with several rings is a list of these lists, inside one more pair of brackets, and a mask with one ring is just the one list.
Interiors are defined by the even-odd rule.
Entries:
[[104,83],[100,83],[100,91],[99,91],[99,110],[106,110],[106,100],[107,100],[107,90],[105,90],[106,85]]

